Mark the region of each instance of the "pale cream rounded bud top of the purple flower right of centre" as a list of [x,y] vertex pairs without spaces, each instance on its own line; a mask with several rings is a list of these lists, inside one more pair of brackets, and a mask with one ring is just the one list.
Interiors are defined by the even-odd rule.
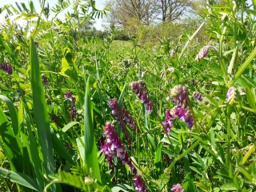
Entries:
[[178,102],[178,105],[187,106],[187,93],[186,86],[177,85],[170,90],[170,96],[174,99],[174,102]]

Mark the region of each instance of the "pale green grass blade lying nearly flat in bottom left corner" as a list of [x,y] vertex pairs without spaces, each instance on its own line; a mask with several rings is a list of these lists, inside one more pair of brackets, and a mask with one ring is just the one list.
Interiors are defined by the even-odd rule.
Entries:
[[39,191],[38,183],[35,181],[34,178],[30,178],[26,174],[14,172],[11,170],[6,170],[0,167],[0,175],[4,178],[9,178],[13,182],[17,182],[22,186],[26,186],[32,190]]

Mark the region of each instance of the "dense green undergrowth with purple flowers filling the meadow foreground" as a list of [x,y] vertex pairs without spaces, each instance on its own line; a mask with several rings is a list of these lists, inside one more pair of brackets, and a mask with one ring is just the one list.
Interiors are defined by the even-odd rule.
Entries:
[[190,35],[114,49],[114,31],[70,35],[106,10],[75,3],[61,22],[5,6],[40,20],[1,26],[1,190],[255,191],[253,2],[210,5]]

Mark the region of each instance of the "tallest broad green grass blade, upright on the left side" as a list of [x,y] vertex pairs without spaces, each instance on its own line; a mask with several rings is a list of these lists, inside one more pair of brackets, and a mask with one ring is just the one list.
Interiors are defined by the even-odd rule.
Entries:
[[46,169],[46,174],[54,174],[54,149],[50,134],[50,122],[46,108],[46,97],[42,87],[38,53],[33,38],[30,38],[30,66],[34,120],[38,130],[39,145],[42,148],[43,166]]

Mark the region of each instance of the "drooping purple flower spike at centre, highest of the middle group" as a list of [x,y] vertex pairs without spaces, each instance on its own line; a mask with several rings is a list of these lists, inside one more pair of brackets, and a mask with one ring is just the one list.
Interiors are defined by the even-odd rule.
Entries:
[[152,108],[153,108],[152,106],[153,102],[150,102],[150,96],[147,93],[145,82],[143,81],[131,82],[130,87],[132,90],[135,91],[135,94],[141,100],[142,104],[144,104],[148,113],[151,114]]

